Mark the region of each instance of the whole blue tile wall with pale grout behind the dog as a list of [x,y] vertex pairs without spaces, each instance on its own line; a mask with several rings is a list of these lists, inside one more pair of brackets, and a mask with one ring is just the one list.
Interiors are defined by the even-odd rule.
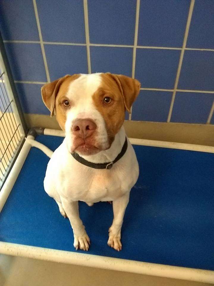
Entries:
[[40,94],[47,74],[55,80],[91,68],[141,82],[131,120],[166,122],[178,74],[170,121],[206,124],[211,117],[214,124],[214,0],[195,0],[182,62],[191,0],[88,0],[89,34],[83,0],[36,4],[44,54],[33,2],[0,1],[0,30],[25,113],[49,114]]

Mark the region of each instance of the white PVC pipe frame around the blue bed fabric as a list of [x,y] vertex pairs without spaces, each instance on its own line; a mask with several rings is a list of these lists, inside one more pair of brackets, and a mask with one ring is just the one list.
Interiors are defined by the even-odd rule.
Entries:
[[[47,129],[47,128],[45,128],[44,134],[64,137],[63,131]],[[29,138],[33,139],[33,136],[30,136]],[[176,142],[163,142],[163,141],[135,139],[135,138],[130,138],[129,140],[132,144],[137,144],[137,145],[214,153],[214,147],[211,146],[202,146],[202,145],[176,143]],[[29,143],[25,142],[23,144],[23,147],[15,161],[15,164],[13,165],[12,170],[8,175],[8,178],[1,189],[0,212],[10,194],[10,191],[12,190],[13,185],[15,184],[15,181],[18,177],[19,172],[21,171],[21,168],[29,153],[30,148],[31,145]],[[125,272],[146,274],[152,276],[204,282],[204,283],[214,283],[214,271],[202,270],[202,269],[161,265],[156,263],[104,257],[92,254],[82,254],[73,251],[62,251],[50,248],[42,248],[42,247],[21,245],[15,243],[6,243],[6,242],[0,242],[0,253],[13,256],[23,256],[35,259],[62,262],[68,264],[104,268],[109,270],[125,271]]]

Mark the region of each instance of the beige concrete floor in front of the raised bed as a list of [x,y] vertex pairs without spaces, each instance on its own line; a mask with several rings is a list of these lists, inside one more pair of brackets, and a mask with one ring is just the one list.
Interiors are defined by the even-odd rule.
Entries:
[[0,255],[0,285],[208,286],[211,284]]

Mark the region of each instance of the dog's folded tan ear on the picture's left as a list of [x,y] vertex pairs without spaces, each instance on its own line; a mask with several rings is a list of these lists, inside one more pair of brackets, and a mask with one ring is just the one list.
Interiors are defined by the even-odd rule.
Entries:
[[43,102],[45,103],[45,106],[51,111],[51,116],[54,115],[56,96],[59,88],[64,80],[69,76],[70,75],[67,74],[64,77],[60,77],[58,80],[54,80],[51,83],[46,83],[41,88]]

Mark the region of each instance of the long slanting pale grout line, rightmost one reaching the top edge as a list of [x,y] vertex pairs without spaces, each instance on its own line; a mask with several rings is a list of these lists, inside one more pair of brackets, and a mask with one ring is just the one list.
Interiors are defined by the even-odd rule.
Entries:
[[191,0],[190,8],[189,8],[189,14],[188,14],[188,18],[187,18],[186,29],[185,29],[185,34],[184,34],[183,46],[182,46],[182,50],[181,50],[181,54],[180,54],[180,60],[179,60],[179,64],[178,64],[178,69],[177,69],[177,74],[176,74],[176,79],[175,79],[175,84],[174,84],[174,91],[172,94],[171,105],[169,108],[169,114],[168,114],[167,122],[170,122],[170,120],[171,120],[171,114],[172,114],[172,109],[173,109],[173,105],[174,105],[178,81],[179,81],[179,77],[180,77],[180,71],[181,71],[181,66],[182,66],[183,57],[184,57],[184,51],[185,51],[185,47],[186,47],[186,43],[187,43],[187,38],[188,38],[189,27],[190,27],[190,23],[191,23],[194,4],[195,4],[195,0]]

